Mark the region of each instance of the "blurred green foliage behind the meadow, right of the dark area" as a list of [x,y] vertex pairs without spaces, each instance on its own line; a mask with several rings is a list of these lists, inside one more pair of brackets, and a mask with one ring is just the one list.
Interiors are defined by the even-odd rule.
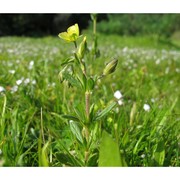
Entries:
[[180,29],[179,14],[108,14],[99,22],[98,31],[105,34],[169,37]]

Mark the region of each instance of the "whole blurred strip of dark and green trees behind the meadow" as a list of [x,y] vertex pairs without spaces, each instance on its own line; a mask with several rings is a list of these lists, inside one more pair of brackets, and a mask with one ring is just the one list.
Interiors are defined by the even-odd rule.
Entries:
[[[78,23],[92,27],[90,14],[0,14],[0,36],[57,35]],[[98,14],[99,33],[137,36],[157,34],[180,39],[180,14]]]

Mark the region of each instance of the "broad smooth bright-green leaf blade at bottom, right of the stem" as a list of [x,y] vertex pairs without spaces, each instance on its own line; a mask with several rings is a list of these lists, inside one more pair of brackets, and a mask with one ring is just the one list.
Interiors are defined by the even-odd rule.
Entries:
[[102,141],[99,151],[99,167],[122,167],[127,166],[124,158],[121,156],[118,144],[103,131]]

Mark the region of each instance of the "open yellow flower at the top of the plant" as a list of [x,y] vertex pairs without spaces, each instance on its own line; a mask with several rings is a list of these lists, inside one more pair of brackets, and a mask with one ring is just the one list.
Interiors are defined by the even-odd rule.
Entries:
[[58,36],[67,42],[75,42],[77,40],[77,38],[79,37],[79,26],[78,26],[78,24],[70,26],[67,29],[67,32],[59,33]]

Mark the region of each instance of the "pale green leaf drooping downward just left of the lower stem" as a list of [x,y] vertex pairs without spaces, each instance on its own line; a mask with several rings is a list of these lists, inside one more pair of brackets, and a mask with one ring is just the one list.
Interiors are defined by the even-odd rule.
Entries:
[[81,134],[81,130],[79,128],[79,125],[77,122],[74,122],[73,120],[70,120],[69,122],[70,125],[70,129],[72,131],[72,133],[74,134],[74,136],[81,142],[83,143],[83,137]]

